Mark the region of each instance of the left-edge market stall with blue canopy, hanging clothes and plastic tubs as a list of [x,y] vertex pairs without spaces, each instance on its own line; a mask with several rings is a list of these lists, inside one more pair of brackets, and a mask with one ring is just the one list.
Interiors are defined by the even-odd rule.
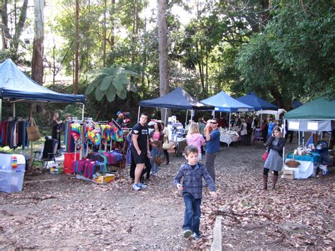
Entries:
[[[11,59],[6,59],[0,64],[0,142],[1,146],[10,146],[16,148],[22,146],[23,149],[28,147],[30,144],[31,155],[30,159],[33,159],[33,143],[28,141],[28,135],[26,128],[30,125],[31,120],[29,118],[18,118],[16,117],[16,103],[18,102],[35,102],[35,103],[85,103],[84,95],[70,95],[62,94],[54,91],[50,91],[47,88],[40,86],[38,83],[33,81],[30,77],[24,74],[18,66],[14,64]],[[2,117],[2,103],[7,102],[13,104],[13,117],[3,118]],[[30,116],[31,117],[31,116]],[[29,121],[30,120],[30,121]],[[6,128],[6,129],[5,129]],[[11,128],[11,131],[8,130]],[[11,132],[17,132],[15,136],[11,136]],[[14,134],[13,134],[14,135]],[[18,137],[16,135],[19,135]],[[8,156],[7,154],[5,156]],[[15,177],[15,168],[18,165],[18,158],[22,155],[11,155],[11,161],[8,165],[11,167],[7,173],[0,173],[1,187],[6,187],[6,183],[11,184]],[[23,156],[22,156],[23,157]],[[25,162],[25,158],[23,157]],[[23,160],[20,160],[20,165],[25,165]],[[2,159],[0,160],[2,162]],[[20,179],[23,181],[22,179]],[[22,185],[18,185],[22,189]],[[7,192],[7,191],[5,191]]]

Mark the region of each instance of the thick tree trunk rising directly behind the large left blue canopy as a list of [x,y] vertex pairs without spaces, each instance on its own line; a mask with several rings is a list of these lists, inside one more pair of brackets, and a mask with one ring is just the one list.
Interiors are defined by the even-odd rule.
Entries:
[[33,43],[32,78],[43,85],[43,52],[44,52],[44,0],[35,0],[35,26]]

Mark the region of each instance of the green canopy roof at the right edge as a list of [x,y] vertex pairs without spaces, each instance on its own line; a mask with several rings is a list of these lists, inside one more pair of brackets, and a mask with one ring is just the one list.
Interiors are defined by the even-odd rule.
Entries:
[[335,99],[318,98],[284,115],[285,119],[335,119]]

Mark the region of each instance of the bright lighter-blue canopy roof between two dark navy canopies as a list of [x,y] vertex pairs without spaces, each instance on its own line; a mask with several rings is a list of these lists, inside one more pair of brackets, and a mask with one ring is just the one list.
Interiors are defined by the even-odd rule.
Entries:
[[235,100],[224,91],[213,95],[213,97],[201,100],[201,102],[215,106],[215,110],[218,112],[251,112],[254,110],[253,107]]

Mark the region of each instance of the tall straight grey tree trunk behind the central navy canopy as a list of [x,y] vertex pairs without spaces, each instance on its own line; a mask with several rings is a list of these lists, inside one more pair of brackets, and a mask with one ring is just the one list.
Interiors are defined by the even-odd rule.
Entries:
[[[169,62],[167,54],[166,0],[158,0],[158,52],[160,97],[170,92]],[[165,119],[165,108],[160,110],[161,119]],[[166,116],[167,117],[167,116]],[[165,121],[166,123],[166,121]]]

